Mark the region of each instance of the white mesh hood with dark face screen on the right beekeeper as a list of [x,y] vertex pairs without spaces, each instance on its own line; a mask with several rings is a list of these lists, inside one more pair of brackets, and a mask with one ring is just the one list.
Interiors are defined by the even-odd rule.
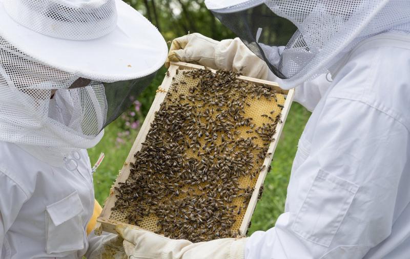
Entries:
[[[410,32],[408,0],[207,0],[207,7],[292,88],[329,69],[360,41],[387,31]],[[275,47],[273,19],[297,31]]]

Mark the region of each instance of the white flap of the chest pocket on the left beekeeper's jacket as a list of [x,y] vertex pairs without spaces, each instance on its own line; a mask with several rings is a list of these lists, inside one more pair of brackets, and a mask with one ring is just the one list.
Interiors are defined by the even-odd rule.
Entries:
[[47,212],[55,226],[70,220],[83,211],[84,207],[77,191],[71,193],[63,200],[47,206]]

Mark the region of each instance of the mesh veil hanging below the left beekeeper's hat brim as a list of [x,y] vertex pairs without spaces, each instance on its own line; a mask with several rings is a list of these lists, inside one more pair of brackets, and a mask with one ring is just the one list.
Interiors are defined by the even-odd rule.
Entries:
[[93,147],[154,75],[70,88],[80,74],[40,64],[0,37],[0,141],[63,153]]

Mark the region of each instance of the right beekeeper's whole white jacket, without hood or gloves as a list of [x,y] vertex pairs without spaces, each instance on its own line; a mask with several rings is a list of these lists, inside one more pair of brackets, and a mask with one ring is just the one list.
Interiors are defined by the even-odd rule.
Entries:
[[409,258],[409,71],[410,35],[384,33],[345,55],[324,94],[296,88],[314,111],[285,212],[250,237],[246,259]]

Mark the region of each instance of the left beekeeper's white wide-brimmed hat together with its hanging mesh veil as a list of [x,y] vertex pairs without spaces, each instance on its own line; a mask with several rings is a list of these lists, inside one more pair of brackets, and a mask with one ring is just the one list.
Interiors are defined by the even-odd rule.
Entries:
[[0,141],[94,146],[167,52],[120,0],[0,0]]

